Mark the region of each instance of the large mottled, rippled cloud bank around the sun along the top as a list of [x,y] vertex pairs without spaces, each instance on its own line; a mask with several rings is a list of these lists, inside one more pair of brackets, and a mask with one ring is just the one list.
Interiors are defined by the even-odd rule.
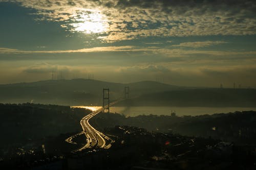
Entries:
[[[256,2],[252,0],[11,0],[9,2],[36,9],[37,20],[60,22],[61,27],[71,32],[77,31],[74,23],[82,24],[89,20],[102,24],[107,28],[96,35],[104,42],[148,36],[256,34]],[[92,14],[99,15],[101,19],[91,17]]]

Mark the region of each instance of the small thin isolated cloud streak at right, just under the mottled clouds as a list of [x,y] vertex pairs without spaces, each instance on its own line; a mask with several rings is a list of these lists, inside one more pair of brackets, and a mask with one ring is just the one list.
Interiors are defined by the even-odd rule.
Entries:
[[193,47],[193,48],[199,48],[199,47],[207,47],[211,45],[219,45],[227,43],[225,41],[195,41],[195,42],[183,42],[179,45],[172,45],[176,47]]

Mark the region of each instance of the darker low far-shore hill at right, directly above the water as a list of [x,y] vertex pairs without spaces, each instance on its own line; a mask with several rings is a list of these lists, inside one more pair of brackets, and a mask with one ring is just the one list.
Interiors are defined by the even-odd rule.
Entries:
[[148,93],[125,101],[130,106],[200,106],[200,107],[253,107],[255,89],[181,89]]

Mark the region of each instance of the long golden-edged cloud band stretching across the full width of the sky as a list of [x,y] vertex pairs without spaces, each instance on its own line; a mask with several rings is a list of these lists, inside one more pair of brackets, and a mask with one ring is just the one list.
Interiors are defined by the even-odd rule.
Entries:
[[[207,43],[206,43],[207,44]],[[212,43],[209,43],[212,44]],[[79,55],[81,56],[83,53],[88,53],[88,54],[93,54],[93,53],[104,53],[104,52],[108,52],[108,53],[112,53],[115,54],[115,56],[118,56],[119,52],[122,52],[122,56],[130,56],[129,57],[129,61],[132,60],[131,55],[135,56],[147,56],[145,59],[143,59],[143,62],[146,61],[151,61],[152,59],[149,59],[150,56],[154,57],[154,61],[158,61],[158,60],[164,60],[164,58],[180,58],[179,60],[181,60],[181,58],[190,58],[190,59],[194,59],[194,60],[202,60],[202,59],[208,59],[211,61],[215,61],[215,60],[230,60],[231,59],[240,59],[242,60],[248,60],[250,59],[252,61],[253,58],[255,58],[256,55],[256,51],[210,51],[210,50],[197,50],[197,47],[205,45],[203,44],[185,44],[185,45],[189,45],[189,47],[193,47],[195,46],[195,49],[185,49],[185,48],[172,48],[173,46],[170,47],[156,47],[156,46],[148,46],[148,47],[137,47],[137,46],[105,46],[105,47],[93,47],[93,48],[82,48],[82,49],[78,49],[78,50],[60,50],[60,51],[25,51],[25,50],[17,50],[17,49],[12,49],[12,48],[1,48],[0,47],[0,55],[2,56],[0,59],[2,60],[6,60],[6,59],[11,59],[11,58],[15,58],[15,56],[6,56],[6,55],[11,55],[11,54],[23,54],[24,56],[18,57],[18,60],[20,60],[20,58],[26,58],[28,57],[28,55],[32,55],[30,56],[30,59],[36,58],[36,56],[34,56],[34,54],[45,54],[46,56],[43,56],[41,59],[46,59],[47,57],[49,58],[50,56],[54,56],[54,58],[56,57],[55,55],[59,55],[61,56],[62,54],[66,54],[66,59],[73,59],[72,57],[67,57],[68,54],[74,54],[72,56],[74,57],[78,57]],[[125,54],[123,53],[125,52]],[[28,54],[28,55],[27,55]],[[77,54],[77,55],[75,55]],[[158,56],[158,57],[156,57]],[[214,58],[212,58],[214,57]],[[218,58],[217,58],[218,57]],[[53,58],[53,59],[54,59]],[[61,58],[65,58],[64,55],[62,55]],[[111,63],[117,63],[120,61],[120,57],[116,58],[115,60],[110,60],[110,57],[108,57],[108,59],[106,61],[108,61],[108,64]],[[112,58],[112,57],[111,57]],[[16,58],[17,59],[17,58]],[[113,59],[113,58],[112,58]],[[138,58],[138,60],[141,59]],[[104,59],[105,60],[105,59]],[[96,60],[95,60],[96,61]],[[98,61],[98,63],[100,63],[102,61],[102,56],[101,56],[101,60]],[[254,61],[253,61],[254,62]],[[200,61],[197,61],[197,63],[200,63]]]

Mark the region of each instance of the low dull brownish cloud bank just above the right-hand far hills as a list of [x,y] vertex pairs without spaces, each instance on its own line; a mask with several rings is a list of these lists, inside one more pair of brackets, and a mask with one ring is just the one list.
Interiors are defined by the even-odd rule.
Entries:
[[[188,63],[186,63],[188,64]],[[183,66],[182,66],[183,65]],[[219,87],[222,83],[225,88],[232,87],[233,82],[242,84],[243,87],[256,87],[253,79],[256,67],[251,65],[230,66],[184,66],[174,67],[173,64],[164,65],[136,65],[120,67],[114,75],[127,80],[161,80],[165,83],[183,86],[210,86]],[[245,76],[246,75],[246,76]],[[126,80],[126,81],[127,81]],[[125,81],[125,80],[124,80]]]

